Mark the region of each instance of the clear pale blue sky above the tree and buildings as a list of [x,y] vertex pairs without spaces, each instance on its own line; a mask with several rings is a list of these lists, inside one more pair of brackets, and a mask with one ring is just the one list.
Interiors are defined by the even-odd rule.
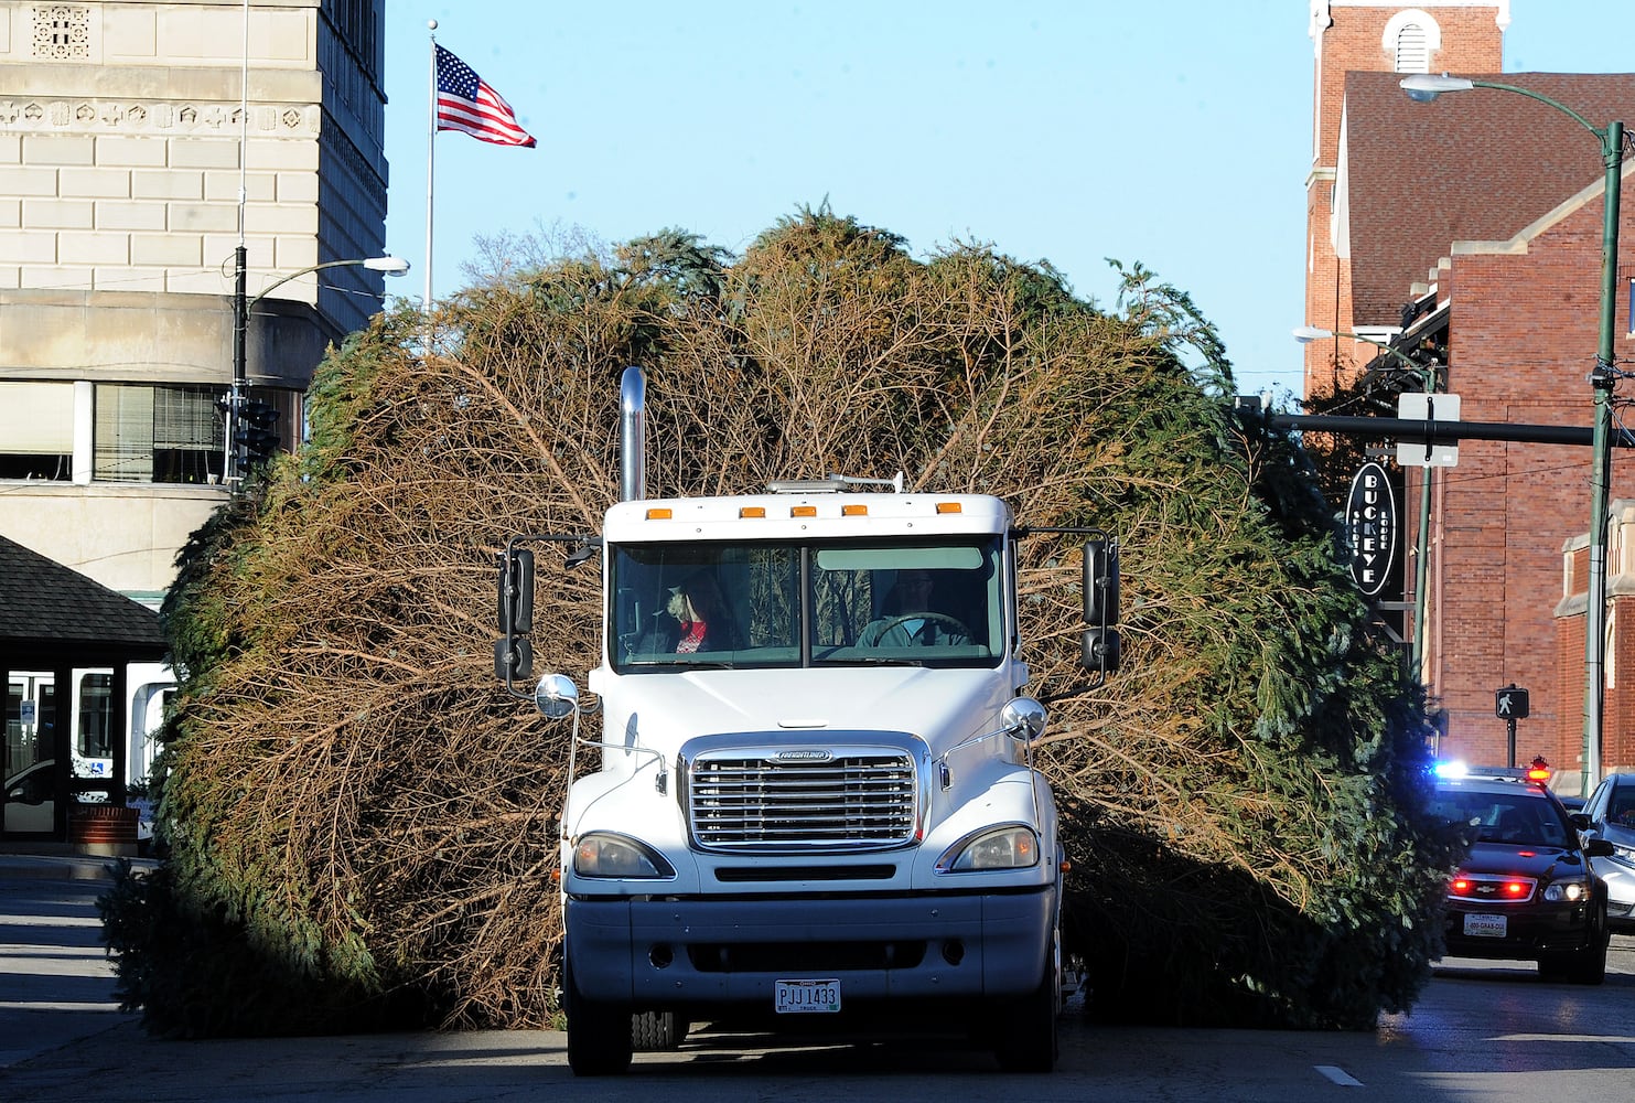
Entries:
[[[741,252],[801,205],[1050,260],[1112,308],[1113,257],[1192,295],[1239,389],[1300,391],[1306,0],[391,0],[387,249],[425,275],[428,34],[536,149],[437,137],[437,296],[479,234],[677,226]],[[1635,69],[1630,0],[1511,0],[1506,72]],[[1594,119],[1597,124],[1604,119]],[[1628,119],[1635,126],[1635,119]],[[1584,182],[1601,175],[1584,136]],[[1624,245],[1635,255],[1635,242]]]

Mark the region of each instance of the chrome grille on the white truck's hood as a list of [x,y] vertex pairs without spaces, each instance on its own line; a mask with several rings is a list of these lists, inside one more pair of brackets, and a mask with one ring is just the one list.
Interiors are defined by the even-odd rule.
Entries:
[[880,849],[917,830],[914,759],[901,751],[703,754],[687,784],[693,840],[710,849]]

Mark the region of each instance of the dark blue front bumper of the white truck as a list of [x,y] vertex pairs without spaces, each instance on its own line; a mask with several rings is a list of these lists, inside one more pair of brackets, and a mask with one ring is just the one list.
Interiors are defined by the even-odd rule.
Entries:
[[576,987],[631,1006],[770,1008],[777,980],[852,1002],[1014,997],[1051,959],[1055,887],[768,900],[569,898]]

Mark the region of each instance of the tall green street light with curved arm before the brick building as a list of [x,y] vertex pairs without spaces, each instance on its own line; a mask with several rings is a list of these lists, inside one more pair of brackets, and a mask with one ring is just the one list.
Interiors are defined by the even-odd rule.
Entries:
[[1606,632],[1607,632],[1607,483],[1612,466],[1612,365],[1615,363],[1612,349],[1614,313],[1617,311],[1619,281],[1619,205],[1624,191],[1624,123],[1612,121],[1606,126],[1591,126],[1589,119],[1573,108],[1540,95],[1532,88],[1498,83],[1494,80],[1476,80],[1470,77],[1450,77],[1442,74],[1414,74],[1401,80],[1403,92],[1409,100],[1429,103],[1444,92],[1468,92],[1472,88],[1493,88],[1494,92],[1514,92],[1516,95],[1537,100],[1568,116],[1601,142],[1601,164],[1606,169],[1606,198],[1602,208],[1606,219],[1601,231],[1601,344],[1596,350],[1596,370],[1589,373],[1594,388],[1596,421],[1589,437],[1589,606],[1584,609],[1584,771],[1583,794],[1588,797],[1591,787],[1601,781],[1601,730],[1602,730],[1602,692],[1606,676]]

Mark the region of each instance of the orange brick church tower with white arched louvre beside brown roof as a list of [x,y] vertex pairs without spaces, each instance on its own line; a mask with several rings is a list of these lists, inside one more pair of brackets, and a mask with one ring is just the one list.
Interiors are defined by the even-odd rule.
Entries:
[[[1311,108],[1311,172],[1306,175],[1306,326],[1362,332],[1378,340],[1391,329],[1355,319],[1351,301],[1351,242],[1337,224],[1334,185],[1344,159],[1346,74],[1503,72],[1509,0],[1444,0],[1414,7],[1311,0],[1316,46]],[[1406,288],[1403,288],[1406,298]],[[1342,342],[1349,347],[1351,342]],[[1372,357],[1372,352],[1370,352]],[[1364,360],[1370,358],[1364,357]],[[1305,393],[1333,389],[1346,353],[1334,340],[1306,345]]]

